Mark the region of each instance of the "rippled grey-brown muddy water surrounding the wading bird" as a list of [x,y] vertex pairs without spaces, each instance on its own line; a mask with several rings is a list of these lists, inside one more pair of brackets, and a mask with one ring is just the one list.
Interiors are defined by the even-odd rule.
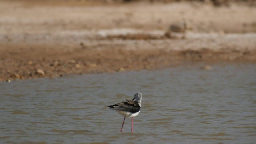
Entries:
[[[184,64],[154,71],[0,83],[0,143],[256,142],[256,65]],[[126,118],[106,105],[142,92]]]

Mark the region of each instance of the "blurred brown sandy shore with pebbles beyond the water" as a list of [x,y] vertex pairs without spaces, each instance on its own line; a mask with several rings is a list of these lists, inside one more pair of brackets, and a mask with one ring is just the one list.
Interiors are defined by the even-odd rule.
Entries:
[[256,8],[246,3],[0,1],[0,81],[256,62]]

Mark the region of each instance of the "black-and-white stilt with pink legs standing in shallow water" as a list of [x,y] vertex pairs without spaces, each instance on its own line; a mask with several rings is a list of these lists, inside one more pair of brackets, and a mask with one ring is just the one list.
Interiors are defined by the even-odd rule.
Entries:
[[[133,118],[140,113],[141,108],[141,99],[142,94],[140,92],[134,95],[132,100],[127,100],[124,102],[119,102],[115,105],[108,106],[112,110],[116,110],[119,114],[124,116],[124,120],[126,117],[132,118],[132,132],[133,132]],[[121,132],[123,132],[124,121],[122,124]]]

